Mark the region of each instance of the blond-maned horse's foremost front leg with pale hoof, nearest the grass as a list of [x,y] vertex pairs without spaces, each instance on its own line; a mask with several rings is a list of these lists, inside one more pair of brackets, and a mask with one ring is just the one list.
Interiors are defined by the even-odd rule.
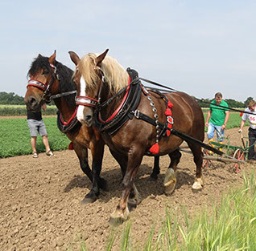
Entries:
[[128,155],[126,174],[122,180],[122,184],[124,187],[122,192],[122,198],[114,213],[111,214],[111,217],[109,219],[109,223],[111,225],[120,225],[128,218],[128,215],[130,213],[130,210],[128,208],[128,202],[130,199],[131,191],[134,192],[134,194],[132,195],[134,198],[132,200],[136,201],[136,205],[139,204],[139,202],[141,201],[138,190],[134,186],[134,178],[138,172],[138,167],[140,166],[143,157],[143,154],[139,154],[139,152],[142,152],[141,149],[133,150],[132,153]]

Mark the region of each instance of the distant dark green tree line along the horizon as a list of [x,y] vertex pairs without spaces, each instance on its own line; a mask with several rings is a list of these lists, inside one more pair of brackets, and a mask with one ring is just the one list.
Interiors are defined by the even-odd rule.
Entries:
[[[244,102],[237,101],[235,99],[224,100],[229,104],[229,107],[245,108],[250,99],[253,98],[248,97]],[[197,99],[197,103],[199,103],[200,107],[209,107],[209,103],[212,101],[213,99]],[[25,102],[23,96],[16,95],[14,92],[7,93],[5,91],[0,91],[0,104],[25,104]]]

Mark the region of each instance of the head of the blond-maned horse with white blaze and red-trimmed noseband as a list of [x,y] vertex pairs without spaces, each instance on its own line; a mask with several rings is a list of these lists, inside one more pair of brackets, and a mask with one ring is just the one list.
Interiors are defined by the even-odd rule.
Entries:
[[77,119],[86,123],[88,127],[93,124],[93,109],[96,107],[104,83],[104,73],[101,71],[101,63],[105,59],[107,49],[101,55],[89,53],[79,58],[75,52],[69,51],[70,58],[76,65],[73,80],[77,84]]

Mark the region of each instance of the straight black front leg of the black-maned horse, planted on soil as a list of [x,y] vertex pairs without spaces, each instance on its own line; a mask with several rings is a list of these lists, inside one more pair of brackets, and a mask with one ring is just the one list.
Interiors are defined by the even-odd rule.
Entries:
[[107,182],[100,176],[104,154],[104,145],[105,144],[102,141],[92,143],[90,145],[93,157],[93,187],[91,191],[85,196],[84,200],[81,201],[82,204],[93,203],[95,200],[97,200],[97,197],[100,195],[100,188],[105,191],[107,190]]

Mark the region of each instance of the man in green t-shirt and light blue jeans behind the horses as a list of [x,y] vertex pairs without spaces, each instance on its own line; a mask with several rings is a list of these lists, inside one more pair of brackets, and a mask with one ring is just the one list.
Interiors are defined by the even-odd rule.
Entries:
[[[221,105],[223,107],[217,107]],[[224,108],[227,107],[227,108]],[[210,119],[210,122],[209,122]],[[224,137],[225,125],[229,120],[229,105],[224,100],[222,100],[221,92],[215,94],[215,99],[212,101],[212,104],[209,107],[207,119],[205,122],[205,127],[208,127],[207,137],[209,144],[213,141],[214,132],[217,132],[217,140],[222,142]]]

